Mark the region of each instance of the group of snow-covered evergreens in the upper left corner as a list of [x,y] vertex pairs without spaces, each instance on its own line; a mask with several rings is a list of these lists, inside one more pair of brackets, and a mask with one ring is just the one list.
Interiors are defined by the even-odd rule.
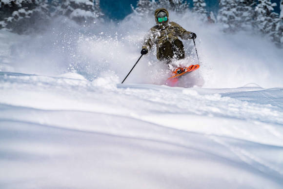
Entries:
[[5,0],[0,2],[0,29],[18,34],[40,32],[58,17],[93,23],[103,14],[100,0]]

